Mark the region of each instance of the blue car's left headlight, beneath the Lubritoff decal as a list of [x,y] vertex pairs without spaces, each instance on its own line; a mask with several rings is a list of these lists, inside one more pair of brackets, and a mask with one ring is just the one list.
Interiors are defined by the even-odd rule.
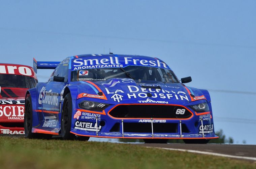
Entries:
[[82,101],[78,104],[78,106],[82,109],[102,111],[108,106],[108,104],[92,101]]

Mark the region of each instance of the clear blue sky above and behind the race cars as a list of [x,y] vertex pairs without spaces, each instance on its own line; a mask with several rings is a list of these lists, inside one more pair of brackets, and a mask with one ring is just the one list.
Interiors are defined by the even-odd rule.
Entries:
[[[253,0],[0,0],[0,62],[32,66],[33,57],[62,61],[109,48],[158,57],[179,78],[192,76],[187,86],[209,90],[215,130],[256,144],[255,8]],[[51,72],[39,70],[39,81]]]

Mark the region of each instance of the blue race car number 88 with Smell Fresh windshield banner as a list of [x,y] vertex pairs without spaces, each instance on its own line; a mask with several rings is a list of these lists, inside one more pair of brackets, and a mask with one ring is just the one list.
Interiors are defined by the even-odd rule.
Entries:
[[34,59],[37,69],[55,70],[26,93],[27,138],[138,138],[149,143],[218,138],[209,92],[185,86],[191,77],[180,83],[158,58],[110,53],[62,62]]

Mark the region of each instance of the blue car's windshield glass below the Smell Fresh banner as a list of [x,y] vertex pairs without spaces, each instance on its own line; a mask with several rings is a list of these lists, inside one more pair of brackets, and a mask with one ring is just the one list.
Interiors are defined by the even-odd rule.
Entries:
[[146,66],[127,66],[124,68],[97,68],[72,71],[73,81],[107,80],[110,78],[132,78],[138,81],[158,81],[179,83],[171,70]]

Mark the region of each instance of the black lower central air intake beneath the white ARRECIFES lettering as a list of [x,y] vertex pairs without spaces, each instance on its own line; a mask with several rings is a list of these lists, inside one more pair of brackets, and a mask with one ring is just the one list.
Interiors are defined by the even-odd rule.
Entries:
[[[153,123],[154,133],[177,133],[176,123]],[[124,133],[152,133],[151,123],[124,123]]]

